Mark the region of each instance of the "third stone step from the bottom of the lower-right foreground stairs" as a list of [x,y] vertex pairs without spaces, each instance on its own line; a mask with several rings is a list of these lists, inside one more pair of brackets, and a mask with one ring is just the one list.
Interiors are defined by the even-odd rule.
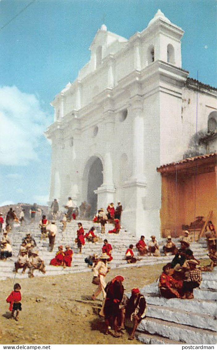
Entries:
[[171,307],[148,305],[147,316],[179,324],[186,324],[196,328],[209,329],[213,331],[216,330],[215,316],[193,313],[192,311],[182,311],[182,309],[178,310]]

